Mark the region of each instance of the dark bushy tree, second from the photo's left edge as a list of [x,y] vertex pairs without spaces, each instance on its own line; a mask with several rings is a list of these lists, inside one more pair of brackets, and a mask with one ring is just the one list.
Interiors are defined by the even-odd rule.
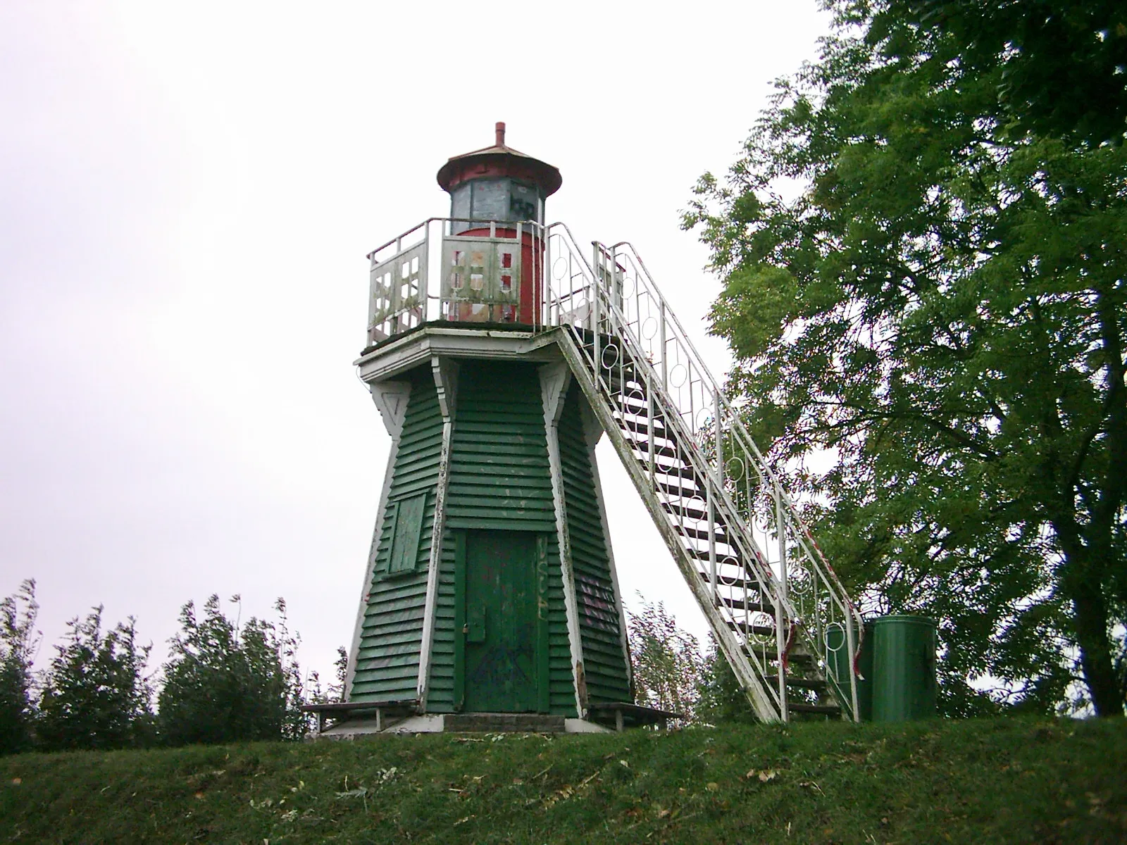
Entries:
[[47,749],[124,748],[151,738],[152,688],[144,677],[151,646],[136,644],[136,624],[103,632],[100,606],[66,623],[39,700],[37,733]]

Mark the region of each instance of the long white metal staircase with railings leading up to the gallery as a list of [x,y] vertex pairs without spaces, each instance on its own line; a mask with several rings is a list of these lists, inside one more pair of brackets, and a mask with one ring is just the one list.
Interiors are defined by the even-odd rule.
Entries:
[[543,326],[756,714],[855,720],[858,612],[633,248],[593,246],[548,229]]

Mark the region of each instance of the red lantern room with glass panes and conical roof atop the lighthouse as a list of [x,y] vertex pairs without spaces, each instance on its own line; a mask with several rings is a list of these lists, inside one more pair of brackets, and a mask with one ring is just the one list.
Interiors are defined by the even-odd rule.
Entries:
[[444,317],[531,326],[543,304],[544,201],[564,179],[551,164],[506,146],[504,123],[496,132],[492,146],[455,155],[438,170],[452,219]]

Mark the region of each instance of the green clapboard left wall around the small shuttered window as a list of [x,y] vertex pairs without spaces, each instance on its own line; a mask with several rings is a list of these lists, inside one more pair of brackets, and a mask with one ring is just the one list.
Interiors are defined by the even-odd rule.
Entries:
[[[437,391],[431,368],[420,367],[411,376],[410,399],[388,492],[389,502],[410,501],[420,493],[426,496],[415,566],[414,569],[409,567],[408,557],[405,571],[389,571],[396,508],[388,508],[373,542],[375,567],[364,613],[352,701],[416,696],[441,456],[442,411]],[[400,566],[403,563],[403,560],[398,561]]]

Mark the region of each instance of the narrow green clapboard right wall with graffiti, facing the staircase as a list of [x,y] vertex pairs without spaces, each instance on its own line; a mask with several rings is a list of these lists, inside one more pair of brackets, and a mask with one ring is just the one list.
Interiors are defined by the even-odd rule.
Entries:
[[583,436],[582,401],[579,386],[573,381],[558,434],[587,697],[593,703],[632,701],[606,537],[591,469],[593,457]]

